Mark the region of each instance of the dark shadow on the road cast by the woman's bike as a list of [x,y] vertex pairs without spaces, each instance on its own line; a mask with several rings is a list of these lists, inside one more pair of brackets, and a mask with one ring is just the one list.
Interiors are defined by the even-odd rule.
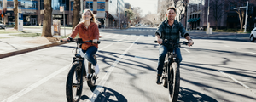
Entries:
[[[90,90],[93,92],[95,88],[91,88]],[[86,95],[81,97],[82,100],[89,99]],[[127,99],[124,95],[116,92],[111,88],[102,87],[102,91],[98,94],[95,102],[127,102]]]

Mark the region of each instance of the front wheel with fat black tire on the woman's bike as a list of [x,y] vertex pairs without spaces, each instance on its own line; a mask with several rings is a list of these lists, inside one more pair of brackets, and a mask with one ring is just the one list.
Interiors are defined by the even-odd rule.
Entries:
[[73,63],[67,75],[66,97],[67,102],[79,102],[83,89],[82,65]]

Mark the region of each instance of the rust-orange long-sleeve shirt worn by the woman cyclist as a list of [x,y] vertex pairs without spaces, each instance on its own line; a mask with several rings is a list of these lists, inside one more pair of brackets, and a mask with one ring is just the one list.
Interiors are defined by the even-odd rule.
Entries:
[[[83,41],[89,41],[93,39],[99,40],[99,29],[96,23],[90,22],[90,26],[88,26],[88,29],[85,27],[84,22],[80,22],[73,30],[72,34],[69,37],[76,37],[79,33],[79,37],[82,38]],[[90,46],[95,46],[98,48],[98,44],[91,43],[91,42],[85,42],[82,45],[82,49],[86,50]]]

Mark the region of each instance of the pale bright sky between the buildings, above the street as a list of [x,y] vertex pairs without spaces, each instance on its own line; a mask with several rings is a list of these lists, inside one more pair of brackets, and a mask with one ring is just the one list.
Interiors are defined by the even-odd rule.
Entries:
[[158,0],[124,0],[125,3],[130,3],[132,8],[141,7],[143,15],[148,14],[148,12],[156,14],[157,1]]

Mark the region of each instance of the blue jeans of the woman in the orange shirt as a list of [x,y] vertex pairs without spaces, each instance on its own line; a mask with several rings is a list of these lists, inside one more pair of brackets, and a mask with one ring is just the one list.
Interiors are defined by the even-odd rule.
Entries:
[[96,65],[96,60],[93,58],[93,55],[96,54],[97,50],[98,48],[96,48],[95,46],[91,46],[87,48],[87,50],[83,50],[83,53],[86,53],[84,56],[85,59],[90,61],[92,65]]

